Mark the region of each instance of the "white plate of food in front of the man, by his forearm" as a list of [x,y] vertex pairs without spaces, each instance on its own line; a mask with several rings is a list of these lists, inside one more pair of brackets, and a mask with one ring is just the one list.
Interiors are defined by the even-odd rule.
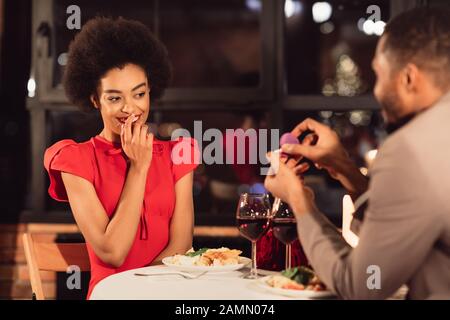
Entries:
[[257,280],[258,287],[268,292],[299,299],[330,298],[336,295],[327,290],[313,270],[295,267]]

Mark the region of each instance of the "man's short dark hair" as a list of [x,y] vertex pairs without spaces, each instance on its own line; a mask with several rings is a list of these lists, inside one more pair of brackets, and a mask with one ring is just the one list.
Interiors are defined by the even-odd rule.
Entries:
[[436,85],[450,86],[450,8],[419,7],[386,25],[384,50],[396,66],[414,63],[433,74]]

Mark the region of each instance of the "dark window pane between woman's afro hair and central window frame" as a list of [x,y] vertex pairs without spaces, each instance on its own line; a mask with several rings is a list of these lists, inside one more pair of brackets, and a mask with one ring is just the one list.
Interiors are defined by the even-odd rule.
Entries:
[[261,3],[248,2],[160,1],[159,33],[174,66],[173,87],[259,85]]

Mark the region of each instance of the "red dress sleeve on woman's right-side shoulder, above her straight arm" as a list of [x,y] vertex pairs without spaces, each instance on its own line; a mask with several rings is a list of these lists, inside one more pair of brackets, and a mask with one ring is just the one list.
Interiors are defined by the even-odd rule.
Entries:
[[197,168],[200,163],[200,151],[197,140],[193,138],[180,137],[176,141],[171,141],[170,145],[173,180],[177,182]]

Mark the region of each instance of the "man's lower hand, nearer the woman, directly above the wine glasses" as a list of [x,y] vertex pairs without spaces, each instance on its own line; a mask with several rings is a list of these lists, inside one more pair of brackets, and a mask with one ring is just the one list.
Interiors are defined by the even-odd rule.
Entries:
[[269,153],[272,174],[266,177],[264,186],[273,196],[288,203],[296,215],[311,212],[316,208],[313,191],[303,185],[301,174],[308,169],[308,164],[296,164],[295,161],[284,163],[278,153]]

